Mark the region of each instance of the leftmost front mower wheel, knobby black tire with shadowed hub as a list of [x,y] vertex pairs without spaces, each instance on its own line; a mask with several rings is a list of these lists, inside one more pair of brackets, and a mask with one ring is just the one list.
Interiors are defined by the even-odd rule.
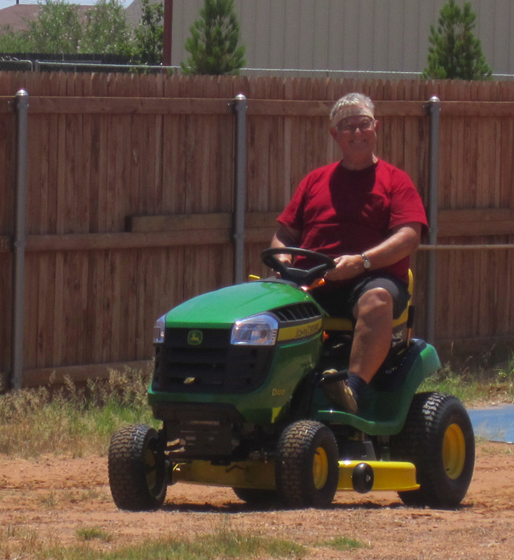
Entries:
[[119,509],[158,509],[166,498],[166,459],[155,429],[124,426],[109,446],[109,485]]

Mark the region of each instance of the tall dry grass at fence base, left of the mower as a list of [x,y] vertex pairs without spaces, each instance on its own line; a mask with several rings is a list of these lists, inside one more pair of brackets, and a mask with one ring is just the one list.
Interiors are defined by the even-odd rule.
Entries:
[[22,389],[0,396],[0,453],[106,454],[111,435],[127,423],[153,423],[141,371],[111,371],[107,381],[59,389]]

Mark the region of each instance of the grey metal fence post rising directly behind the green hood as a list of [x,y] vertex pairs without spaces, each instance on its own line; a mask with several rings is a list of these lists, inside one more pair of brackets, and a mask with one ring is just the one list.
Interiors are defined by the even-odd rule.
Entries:
[[244,281],[244,226],[246,210],[246,96],[239,94],[233,102],[236,112],[233,222],[233,283]]

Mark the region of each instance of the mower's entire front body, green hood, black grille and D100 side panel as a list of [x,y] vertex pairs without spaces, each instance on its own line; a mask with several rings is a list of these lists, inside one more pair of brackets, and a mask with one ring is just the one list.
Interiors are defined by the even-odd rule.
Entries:
[[[173,415],[183,407],[188,410],[196,407],[194,414],[191,413],[194,416],[206,407],[211,410],[221,406],[223,410],[228,407],[238,411],[248,423],[278,421],[288,410],[298,382],[318,361],[322,341],[319,313],[310,319],[278,321],[277,342],[273,346],[229,344],[230,331],[238,319],[294,304],[314,305],[313,301],[293,284],[253,281],[211,291],[168,311],[165,324],[167,329],[175,331],[176,346],[163,344],[156,354],[157,373],[148,390],[148,402],[155,407],[154,414],[163,410],[162,414]],[[188,335],[183,331],[189,329],[202,331],[201,343],[188,344]],[[208,330],[213,332],[207,334]],[[226,332],[221,335],[219,331]],[[175,355],[179,357],[175,359]],[[176,381],[190,378],[201,382]],[[204,383],[202,379],[208,381]],[[211,383],[213,379],[219,383]],[[232,389],[223,389],[224,384]],[[247,386],[251,389],[246,389]]]

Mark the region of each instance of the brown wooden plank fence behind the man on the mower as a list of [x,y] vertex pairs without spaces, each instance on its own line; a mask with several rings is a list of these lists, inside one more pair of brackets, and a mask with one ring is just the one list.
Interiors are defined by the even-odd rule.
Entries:
[[[333,101],[363,91],[378,154],[428,200],[426,102],[441,101],[436,340],[446,359],[510,349],[514,84],[0,73],[0,370],[11,370],[14,94],[29,93],[24,384],[145,364],[156,317],[231,284],[233,98],[248,98],[247,273],[301,178],[338,159]],[[415,258],[424,335],[426,251]]]

